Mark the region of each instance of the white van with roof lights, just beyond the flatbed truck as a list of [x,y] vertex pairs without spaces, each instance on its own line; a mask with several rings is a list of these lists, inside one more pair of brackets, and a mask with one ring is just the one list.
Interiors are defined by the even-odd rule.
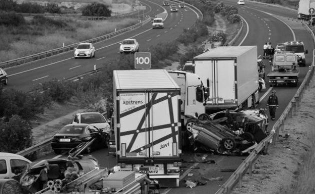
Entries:
[[297,63],[300,66],[305,66],[305,54],[308,53],[307,50],[304,49],[304,44],[302,41],[288,41],[284,43],[284,52],[292,52],[297,55]]

